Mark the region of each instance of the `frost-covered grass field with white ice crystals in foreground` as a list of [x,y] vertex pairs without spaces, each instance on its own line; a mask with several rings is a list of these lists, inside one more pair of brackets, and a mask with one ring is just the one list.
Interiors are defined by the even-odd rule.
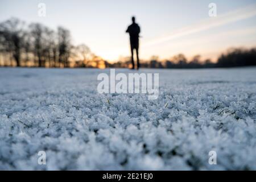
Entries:
[[98,94],[101,72],[0,68],[0,169],[256,169],[255,67],[142,69],[158,100]]

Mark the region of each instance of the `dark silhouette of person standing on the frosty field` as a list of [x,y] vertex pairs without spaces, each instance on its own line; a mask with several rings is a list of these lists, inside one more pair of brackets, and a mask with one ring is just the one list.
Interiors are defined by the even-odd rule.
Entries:
[[137,69],[139,69],[139,33],[141,32],[141,28],[137,23],[135,23],[135,17],[131,18],[133,23],[127,28],[126,33],[130,35],[130,44],[131,44],[131,64],[134,67],[134,59],[133,59],[133,50],[136,50],[137,55]]

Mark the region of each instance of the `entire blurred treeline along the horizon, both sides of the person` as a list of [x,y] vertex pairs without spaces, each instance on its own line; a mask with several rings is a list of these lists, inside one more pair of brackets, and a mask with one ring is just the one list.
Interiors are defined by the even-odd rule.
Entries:
[[[109,63],[94,55],[88,46],[74,46],[67,28],[57,30],[40,23],[26,24],[17,18],[0,23],[0,65],[11,67],[77,67],[77,68],[127,68],[130,57]],[[256,65],[256,48],[229,49],[217,62],[201,60],[200,55],[188,60],[183,54],[168,60],[152,56],[141,61],[142,68],[220,68]]]

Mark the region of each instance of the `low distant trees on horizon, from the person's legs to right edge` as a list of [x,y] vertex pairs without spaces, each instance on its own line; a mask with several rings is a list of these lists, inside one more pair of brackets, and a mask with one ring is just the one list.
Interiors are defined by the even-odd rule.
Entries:
[[[110,64],[108,67],[127,67],[130,58],[122,58],[118,63]],[[183,54],[176,55],[168,60],[159,61],[158,56],[152,56],[150,61],[143,61],[143,68],[224,68],[224,67],[244,67],[256,65],[256,48],[243,49],[232,48],[218,57],[217,63],[210,59],[202,60],[200,55],[188,60]]]

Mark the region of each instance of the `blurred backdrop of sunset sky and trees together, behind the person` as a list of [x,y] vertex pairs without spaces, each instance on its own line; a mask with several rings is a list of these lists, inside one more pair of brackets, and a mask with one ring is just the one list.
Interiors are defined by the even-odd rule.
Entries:
[[0,65],[131,67],[125,30],[133,15],[143,68],[256,65],[255,0],[1,0]]

